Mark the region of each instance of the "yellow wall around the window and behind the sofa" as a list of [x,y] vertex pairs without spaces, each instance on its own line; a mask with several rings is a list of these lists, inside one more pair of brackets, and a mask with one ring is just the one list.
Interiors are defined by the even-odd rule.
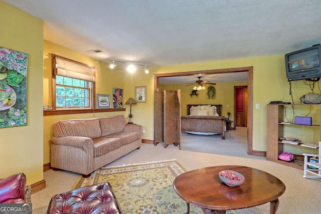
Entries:
[[[65,47],[51,43],[44,40],[44,105],[52,105],[51,96],[51,78],[52,78],[52,65],[51,54],[56,54],[62,57],[66,57],[77,62],[82,62],[87,65],[96,67],[96,93],[97,94],[109,94],[112,102],[112,90],[113,88],[124,87],[124,78],[122,72],[110,70],[108,65],[95,60],[91,57],[85,56],[78,52],[72,51]],[[128,99],[124,93],[124,99]],[[112,103],[111,103],[112,105]],[[124,105],[124,108],[126,106]],[[128,110],[127,110],[128,111]],[[104,117],[109,115],[122,114],[126,115],[124,111],[120,112],[103,112],[103,113],[87,113],[87,114],[68,114],[68,115],[54,115],[44,116],[44,160],[43,163],[50,162],[50,139],[54,136],[52,131],[52,124],[59,120],[76,119],[76,118],[90,118],[90,117]]]

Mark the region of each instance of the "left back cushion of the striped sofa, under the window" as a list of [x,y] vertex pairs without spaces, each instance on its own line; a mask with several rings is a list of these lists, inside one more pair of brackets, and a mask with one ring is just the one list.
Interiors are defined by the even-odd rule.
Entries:
[[95,139],[101,136],[98,118],[62,120],[53,124],[55,137],[80,136]]

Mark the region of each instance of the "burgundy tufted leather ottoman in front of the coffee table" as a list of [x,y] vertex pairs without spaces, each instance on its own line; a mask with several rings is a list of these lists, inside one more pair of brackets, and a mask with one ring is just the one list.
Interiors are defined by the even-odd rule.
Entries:
[[110,183],[106,182],[54,195],[47,214],[59,213],[120,214],[121,209]]

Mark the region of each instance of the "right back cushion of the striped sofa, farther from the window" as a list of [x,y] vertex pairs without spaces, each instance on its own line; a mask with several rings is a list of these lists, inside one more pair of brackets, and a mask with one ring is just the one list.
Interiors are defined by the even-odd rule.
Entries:
[[123,115],[115,115],[99,118],[101,137],[122,132],[125,128],[126,121]]

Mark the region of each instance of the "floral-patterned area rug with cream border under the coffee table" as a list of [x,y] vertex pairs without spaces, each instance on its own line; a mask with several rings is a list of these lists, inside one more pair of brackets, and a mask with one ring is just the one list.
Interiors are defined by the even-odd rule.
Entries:
[[[177,160],[102,167],[90,177],[80,179],[75,188],[109,182],[120,203],[122,213],[182,214],[186,203],[173,188],[174,179],[188,171]],[[239,212],[240,211],[240,212]],[[203,213],[191,205],[190,213]],[[260,213],[255,209],[228,210],[226,213]]]

